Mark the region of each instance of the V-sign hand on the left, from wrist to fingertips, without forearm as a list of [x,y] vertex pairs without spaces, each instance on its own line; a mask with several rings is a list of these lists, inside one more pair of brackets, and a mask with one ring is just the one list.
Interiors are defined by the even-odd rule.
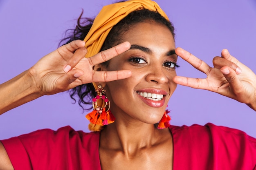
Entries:
[[130,48],[124,42],[93,57],[85,58],[85,42],[76,40],[49,53],[32,66],[28,73],[41,95],[51,95],[90,82],[107,82],[130,77],[130,71],[94,71],[93,66]]

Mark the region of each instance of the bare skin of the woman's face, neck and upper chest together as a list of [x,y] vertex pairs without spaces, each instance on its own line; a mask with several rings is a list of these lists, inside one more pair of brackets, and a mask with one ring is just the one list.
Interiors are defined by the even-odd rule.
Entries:
[[[177,86],[173,82],[175,68],[166,66],[177,62],[173,36],[166,26],[145,22],[132,26],[122,40],[130,42],[132,48],[111,59],[107,68],[100,65],[95,68],[132,72],[126,79],[101,82],[116,117],[101,132],[101,167],[103,170],[171,169],[171,133],[168,129],[157,129],[154,124],[162,118]],[[163,94],[164,98],[158,102],[145,101],[137,92]]]

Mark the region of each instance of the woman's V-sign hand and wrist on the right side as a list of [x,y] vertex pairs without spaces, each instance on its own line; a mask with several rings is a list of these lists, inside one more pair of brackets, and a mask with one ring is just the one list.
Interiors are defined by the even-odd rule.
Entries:
[[176,76],[177,84],[205,89],[242,102],[256,110],[256,75],[251,69],[222,50],[221,57],[214,57],[213,68],[182,48],[176,54],[207,75],[205,79]]

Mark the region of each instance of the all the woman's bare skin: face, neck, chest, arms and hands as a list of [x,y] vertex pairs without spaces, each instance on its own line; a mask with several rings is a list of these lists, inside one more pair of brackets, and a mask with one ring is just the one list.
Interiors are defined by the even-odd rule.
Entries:
[[[172,168],[171,134],[168,129],[158,130],[153,124],[162,117],[168,99],[175,90],[175,83],[219,93],[243,102],[256,111],[256,75],[230,55],[227,49],[222,50],[220,57],[213,58],[213,67],[210,67],[188,51],[181,48],[175,49],[173,38],[169,36],[170,33],[164,26],[152,25],[152,23],[140,24],[146,24],[143,28],[148,33],[138,29],[139,26],[134,26],[132,29],[138,29],[136,33],[140,38],[132,36],[132,32],[131,36],[124,35],[123,39],[124,41],[131,41],[132,45],[136,43],[147,46],[152,53],[141,52],[138,49],[128,50],[130,43],[124,42],[94,55],[90,59],[85,59],[84,56],[87,51],[84,48],[84,42],[73,41],[46,55],[29,70],[0,84],[0,114],[43,95],[66,91],[83,83],[100,82],[107,89],[108,98],[113,103],[111,110],[117,119],[115,123],[108,125],[101,133],[100,160],[102,169],[106,170]],[[162,31],[157,31],[155,28]],[[159,35],[157,38],[160,39],[156,37],[152,41],[144,39],[149,35],[148,38],[150,39],[156,33]],[[164,37],[162,33],[166,33]],[[159,41],[155,43],[155,40]],[[150,46],[147,42],[151,42],[155,46]],[[165,43],[158,46],[162,42]],[[169,58],[176,61],[175,55],[168,57],[165,55],[166,52],[173,49],[182,59],[205,73],[207,78],[175,76],[175,71],[166,70],[162,65],[165,60],[162,59]],[[164,51],[166,52],[164,53]],[[118,61],[113,58],[117,55],[123,62],[117,64]],[[132,60],[127,60],[127,57],[137,55],[146,57],[146,64],[142,62],[138,65],[135,64],[136,62],[128,62]],[[108,67],[99,65],[111,58],[113,59]],[[158,60],[155,60],[156,58]],[[95,70],[93,70],[94,66]],[[129,69],[130,71],[122,69]],[[132,77],[128,78],[130,76]],[[119,79],[125,80],[120,81]],[[113,82],[105,83],[108,81]],[[127,86],[128,84],[129,86]],[[155,106],[152,103],[143,102],[143,98],[139,97],[136,92],[143,91],[145,88],[146,91],[150,91],[152,88],[165,91],[164,102]],[[114,89],[117,89],[118,93]],[[121,97],[123,102],[121,99],[117,100],[116,97]],[[127,107],[128,104],[130,107]],[[140,107],[134,107],[136,104],[139,104]],[[1,142],[0,170],[13,170],[11,161]]]

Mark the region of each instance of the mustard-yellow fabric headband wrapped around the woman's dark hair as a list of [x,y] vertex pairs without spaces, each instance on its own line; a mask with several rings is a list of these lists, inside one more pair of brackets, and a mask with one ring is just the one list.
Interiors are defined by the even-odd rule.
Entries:
[[128,0],[106,5],[94,19],[92,27],[84,39],[85,47],[88,50],[85,57],[89,58],[99,53],[112,27],[124,19],[129,13],[139,9],[157,11],[164,18],[169,20],[159,5],[152,0]]

